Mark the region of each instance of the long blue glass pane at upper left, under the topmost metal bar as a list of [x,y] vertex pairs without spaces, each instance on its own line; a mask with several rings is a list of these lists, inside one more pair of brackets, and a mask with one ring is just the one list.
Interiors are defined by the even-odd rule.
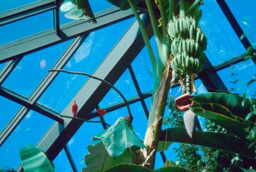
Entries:
[[6,24],[0,27],[1,39],[0,45],[15,41],[38,32],[52,29],[53,27],[52,11],[47,11],[33,17]]

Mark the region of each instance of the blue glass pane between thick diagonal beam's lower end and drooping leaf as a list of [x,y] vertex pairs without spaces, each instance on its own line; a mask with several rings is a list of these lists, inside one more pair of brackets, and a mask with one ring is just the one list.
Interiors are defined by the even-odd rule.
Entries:
[[[94,118],[93,120],[99,120],[99,118]],[[104,129],[101,123],[84,122],[76,134],[68,141],[67,146],[78,171],[86,167],[84,155],[88,154],[87,146],[97,143],[97,141],[92,141],[92,137],[102,131]]]

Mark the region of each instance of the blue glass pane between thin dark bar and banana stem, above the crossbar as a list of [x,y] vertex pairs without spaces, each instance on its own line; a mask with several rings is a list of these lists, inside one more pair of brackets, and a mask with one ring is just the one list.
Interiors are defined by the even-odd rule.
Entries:
[[[150,39],[152,47],[156,47],[155,37]],[[154,54],[156,53],[156,48]],[[144,47],[136,59],[132,62],[132,69],[140,86],[141,92],[148,92],[153,89],[153,69],[148,55],[147,48]]]

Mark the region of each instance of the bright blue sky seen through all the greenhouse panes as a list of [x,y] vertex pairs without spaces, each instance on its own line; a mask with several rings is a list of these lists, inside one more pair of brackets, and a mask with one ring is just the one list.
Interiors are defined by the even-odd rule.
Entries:
[[[248,3],[251,3],[252,5],[241,6],[237,4],[237,1],[238,0],[228,0],[227,3],[237,18],[237,22],[239,22],[242,29],[248,34],[248,38],[253,44],[253,40],[255,41],[256,39],[256,18],[253,14],[252,6],[255,2],[250,0]],[[35,1],[4,0],[1,2],[0,13],[32,2]],[[239,41],[239,38],[237,38],[232,27],[225,18],[225,15],[223,15],[218,7],[218,4],[216,4],[214,0],[205,0],[204,2],[205,4],[202,6],[203,17],[200,21],[200,26],[207,34],[208,46],[205,54],[209,57],[212,65],[220,64],[221,62],[246,52]],[[242,1],[239,2],[242,3]],[[90,1],[90,3],[92,4],[92,10],[94,12],[112,6],[104,0]],[[247,8],[250,8],[251,10],[247,10]],[[133,20],[134,18],[130,18],[123,22],[119,22],[118,24],[92,32],[64,69],[92,74],[104,57],[106,57],[109,50],[115,46],[115,43],[120,39],[122,34],[124,34],[125,30]],[[70,21],[72,20],[65,18],[63,13],[60,13],[61,24]],[[10,41],[15,41],[16,39],[51,29],[52,27],[52,11],[29,17],[25,20],[14,22],[13,24],[4,25],[0,27],[0,46]],[[54,45],[53,47],[45,48],[44,50],[26,55],[1,86],[17,92],[24,97],[29,97],[47,74],[47,70],[52,68],[54,63],[71,42],[72,40],[68,40],[58,45]],[[154,38],[152,38],[150,42],[156,52]],[[152,70],[152,68],[145,48],[141,50],[140,54],[138,54],[131,65],[139,82],[141,92],[145,93],[152,90],[152,76],[150,75],[150,70]],[[0,69],[2,69],[3,66],[4,64],[0,64]],[[256,73],[255,64],[249,60],[240,62],[239,64],[234,65],[234,67],[235,72],[238,73],[236,77],[239,79],[239,82],[237,82],[236,85],[239,89],[236,90],[236,93],[243,94],[244,92],[248,92],[248,95],[252,95],[256,90],[255,84],[246,87],[246,83],[253,78],[253,73]],[[149,71],[147,68],[149,68]],[[231,72],[232,68],[218,71],[218,74],[221,76],[228,89],[234,87],[234,85],[229,82],[233,80],[233,78],[230,77]],[[88,78],[85,76],[61,73],[56,77],[54,82],[51,83],[50,87],[44,92],[37,103],[61,113],[67,104],[72,101],[74,96],[76,96],[77,92],[81,89],[87,79]],[[125,71],[118,82],[115,83],[115,87],[120,89],[127,99],[138,95],[128,71]],[[198,94],[207,92],[200,80],[196,81],[196,88],[198,89]],[[178,90],[179,89],[173,89],[171,94],[176,94]],[[65,94],[63,94],[63,92],[65,92]],[[106,108],[107,106],[120,101],[122,101],[121,97],[111,89],[104,99],[102,99],[99,106],[101,108]],[[151,99],[148,98],[145,101],[149,109]],[[0,130],[3,131],[6,124],[10,122],[21,106],[4,97],[0,97],[0,102],[0,107],[2,109],[0,116]],[[143,139],[147,126],[147,118],[145,117],[141,103],[131,104],[131,111],[134,115],[134,129],[138,136]],[[126,108],[112,111],[106,115],[106,122],[113,124],[118,117],[125,117],[127,114]],[[168,114],[168,110],[166,110],[166,114]],[[40,138],[44,136],[44,133],[51,127],[53,122],[53,120],[30,110],[22,122],[16,127],[10,138],[8,138],[3,146],[0,147],[0,169],[4,167],[17,168],[20,164],[19,148],[27,143],[36,145]],[[39,125],[40,127],[38,127]],[[70,153],[75,161],[78,171],[85,166],[83,155],[88,153],[86,145],[92,144],[92,136],[100,133],[102,130],[103,127],[100,124],[84,123],[68,142],[67,146],[70,149]],[[175,157],[172,153],[172,147],[166,151],[165,154],[168,159],[173,159]],[[72,171],[64,151],[61,151],[58,157],[56,157],[54,164],[56,166],[56,171]],[[161,166],[163,166],[163,161],[161,160],[160,155],[157,154],[156,167],[159,168]]]

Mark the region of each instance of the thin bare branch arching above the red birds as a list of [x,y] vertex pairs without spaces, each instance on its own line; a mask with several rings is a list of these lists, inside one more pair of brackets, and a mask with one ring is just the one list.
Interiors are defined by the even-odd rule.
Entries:
[[71,74],[77,74],[77,75],[85,75],[85,76],[89,76],[90,78],[93,78],[95,80],[99,80],[100,82],[102,83],[105,83],[106,85],[108,85],[109,87],[111,87],[112,89],[114,89],[121,97],[122,99],[124,99],[124,102],[127,106],[127,110],[128,110],[128,113],[129,113],[129,116],[131,118],[131,123],[132,123],[132,120],[133,120],[133,117],[132,117],[132,113],[131,113],[131,109],[130,109],[130,106],[129,106],[129,103],[128,101],[125,99],[124,95],[120,92],[120,90],[116,89],[116,87],[114,87],[114,85],[112,85],[111,83],[107,82],[106,80],[103,80],[101,78],[98,78],[96,76],[92,76],[88,73],[83,73],[83,72],[75,72],[75,71],[66,71],[66,70],[63,70],[63,69],[50,69],[48,70],[49,72],[51,71],[57,71],[57,72],[64,72],[64,73],[71,73]]

